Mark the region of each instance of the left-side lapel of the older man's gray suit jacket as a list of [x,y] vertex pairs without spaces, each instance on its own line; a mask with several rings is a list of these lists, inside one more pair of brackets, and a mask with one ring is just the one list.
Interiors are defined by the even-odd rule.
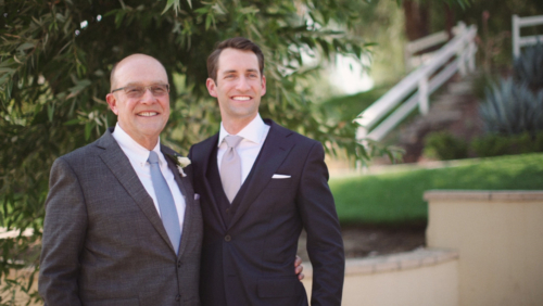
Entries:
[[161,234],[162,239],[164,239],[173,248],[166,230],[162,224],[162,219],[156,212],[153,200],[147,193],[143,184],[141,184],[141,181],[139,180],[138,175],[136,175],[128,157],[126,157],[125,153],[111,135],[112,130],[113,129],[108,130],[97,142],[98,146],[105,149],[103,153],[100,154],[100,157],[132,197],[136,204],[140,207],[149,221]]

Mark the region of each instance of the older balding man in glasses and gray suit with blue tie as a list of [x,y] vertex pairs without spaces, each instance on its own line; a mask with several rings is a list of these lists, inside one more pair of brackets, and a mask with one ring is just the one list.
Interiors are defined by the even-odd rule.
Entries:
[[39,292],[46,305],[199,305],[202,216],[175,152],[166,71],[135,54],[111,75],[117,125],[51,169]]

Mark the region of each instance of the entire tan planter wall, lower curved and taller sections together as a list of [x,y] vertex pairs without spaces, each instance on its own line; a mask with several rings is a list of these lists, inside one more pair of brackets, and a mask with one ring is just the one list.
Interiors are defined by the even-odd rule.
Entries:
[[424,197],[427,248],[348,259],[343,306],[543,305],[543,191],[432,190]]

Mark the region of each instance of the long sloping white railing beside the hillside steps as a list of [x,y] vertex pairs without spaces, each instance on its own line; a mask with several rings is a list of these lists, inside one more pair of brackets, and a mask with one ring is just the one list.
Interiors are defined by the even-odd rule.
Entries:
[[[466,75],[475,71],[476,35],[475,25],[466,27],[464,23],[458,23],[456,36],[435,52],[431,60],[408,74],[354,119],[361,125],[356,131],[356,140],[361,143],[364,139],[381,140],[417,105],[420,113],[428,114],[429,95],[433,91],[456,72]],[[412,94],[413,91],[415,92]],[[402,102],[405,99],[407,100]],[[372,128],[396,106],[399,107],[388,118]]]

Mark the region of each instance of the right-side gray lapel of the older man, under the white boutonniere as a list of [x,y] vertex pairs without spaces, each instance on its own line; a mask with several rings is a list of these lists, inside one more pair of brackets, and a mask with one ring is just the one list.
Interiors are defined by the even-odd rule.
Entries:
[[168,155],[175,156],[176,152],[167,146],[161,144],[162,153],[166,154],[166,161],[168,163],[168,167],[174,173],[174,179],[181,191],[182,197],[185,199],[185,219],[182,221],[182,232],[181,232],[181,242],[179,244],[179,253],[178,257],[181,256],[185,248],[187,247],[187,243],[189,241],[190,231],[193,228],[192,221],[193,218],[193,209],[194,209],[194,190],[192,189],[192,184],[190,183],[192,174],[189,170],[189,167],[184,168],[187,174],[186,177],[181,177],[179,170],[177,169],[177,165],[172,161]]

